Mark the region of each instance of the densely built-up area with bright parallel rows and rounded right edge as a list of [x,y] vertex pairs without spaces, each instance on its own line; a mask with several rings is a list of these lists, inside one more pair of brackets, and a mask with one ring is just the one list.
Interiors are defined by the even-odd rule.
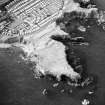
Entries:
[[15,17],[11,29],[19,30],[22,35],[44,28],[62,8],[62,0],[14,0],[6,6]]

